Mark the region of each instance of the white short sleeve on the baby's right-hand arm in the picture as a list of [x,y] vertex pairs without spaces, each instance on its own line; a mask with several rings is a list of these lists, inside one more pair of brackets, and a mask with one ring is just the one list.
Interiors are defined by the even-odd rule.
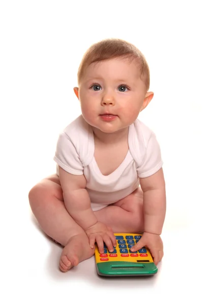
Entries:
[[152,132],[146,144],[145,154],[141,166],[137,168],[138,176],[141,178],[155,174],[163,166],[160,145]]

